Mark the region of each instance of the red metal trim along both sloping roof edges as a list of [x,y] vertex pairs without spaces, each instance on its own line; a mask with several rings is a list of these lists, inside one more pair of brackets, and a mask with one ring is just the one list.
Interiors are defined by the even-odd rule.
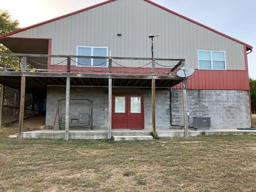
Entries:
[[[5,38],[5,37],[8,37],[8,36],[10,36],[10,35],[12,35],[12,34],[16,34],[16,33],[19,33],[19,32],[22,32],[22,31],[25,31],[25,30],[28,30],[28,29],[31,29],[31,28],[34,28],[34,27],[37,27],[37,26],[46,24],[46,23],[50,23],[50,22],[53,22],[53,21],[56,21],[56,20],[59,20],[59,19],[62,19],[62,18],[71,16],[71,15],[74,15],[74,14],[78,14],[78,13],[80,13],[80,12],[84,12],[84,11],[86,11],[86,10],[89,10],[89,9],[92,9],[92,8],[95,8],[95,7],[98,7],[98,6],[102,6],[102,5],[104,5],[104,4],[107,4],[107,3],[110,3],[110,2],[114,2],[114,1],[116,1],[116,0],[107,0],[107,1],[105,1],[105,2],[96,4],[96,5],[93,5],[93,6],[90,6],[90,7],[87,7],[87,8],[84,8],[84,9],[81,9],[81,10],[78,10],[78,11],[75,11],[75,12],[72,12],[72,13],[69,13],[69,14],[66,14],[66,15],[63,15],[63,16],[60,16],[60,17],[57,17],[57,18],[53,18],[53,19],[51,19],[51,20],[47,20],[47,21],[45,21],[45,22],[41,22],[41,23],[38,23],[38,24],[35,24],[35,25],[32,25],[32,26],[26,27],[26,28],[22,28],[22,29],[19,29],[19,30],[10,32],[10,33],[8,33],[8,34],[5,34],[5,35],[0,36],[0,39]],[[203,25],[203,24],[201,24],[201,23],[199,23],[199,22],[196,22],[196,21],[194,21],[194,20],[192,20],[192,19],[190,19],[190,18],[187,18],[187,17],[185,17],[185,16],[183,16],[183,15],[181,15],[181,14],[178,14],[178,13],[172,11],[172,10],[169,10],[168,8],[165,8],[165,7],[163,7],[163,6],[159,5],[159,4],[156,4],[156,3],[154,3],[154,2],[152,2],[152,1],[150,1],[150,0],[144,0],[144,1],[146,1],[146,2],[148,2],[148,3],[150,3],[150,4],[153,4],[154,6],[157,6],[157,7],[161,8],[161,9],[163,9],[163,10],[166,10],[166,11],[168,11],[168,12],[170,12],[170,13],[176,15],[176,16],[179,16],[179,17],[181,17],[181,18],[183,18],[183,19],[186,19],[186,20],[188,20],[188,21],[190,21],[190,22],[192,22],[192,23],[194,23],[194,24],[197,24],[197,25],[199,25],[199,26],[202,26],[202,27],[204,27],[204,28],[206,28],[206,29],[208,29],[208,30],[210,30],[210,31],[212,31],[212,32],[215,32],[215,33],[220,34],[220,35],[222,35],[222,36],[224,36],[224,37],[226,37],[226,38],[229,38],[229,39],[234,40],[234,41],[236,41],[236,42],[238,42],[238,43],[240,43],[240,44],[243,44],[243,45],[245,45],[245,46],[247,47],[247,51],[248,51],[248,50],[252,50],[252,48],[253,48],[253,47],[252,47],[251,45],[249,45],[249,44],[246,44],[246,43],[244,43],[244,42],[242,42],[242,41],[240,41],[240,40],[237,40],[237,39],[235,39],[235,38],[232,38],[232,37],[230,37],[230,36],[228,36],[228,35],[226,35],[226,34],[223,34],[223,33],[219,32],[219,31],[217,31],[217,30],[214,30],[214,29],[212,29],[212,28],[210,28],[210,27],[208,27],[208,26],[206,26],[206,25]]]

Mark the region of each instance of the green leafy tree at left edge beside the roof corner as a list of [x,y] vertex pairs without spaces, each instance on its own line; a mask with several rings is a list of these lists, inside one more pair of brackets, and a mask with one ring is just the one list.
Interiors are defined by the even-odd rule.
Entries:
[[[18,30],[20,28],[19,24],[18,20],[12,20],[8,11],[0,10],[0,35]],[[12,51],[0,43],[0,53],[12,53]],[[7,68],[17,68],[17,60],[18,59],[16,57],[0,56],[0,64]]]

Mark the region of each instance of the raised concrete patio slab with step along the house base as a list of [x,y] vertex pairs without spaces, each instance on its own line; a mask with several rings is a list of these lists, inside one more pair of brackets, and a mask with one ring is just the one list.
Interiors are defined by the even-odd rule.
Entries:
[[[115,129],[112,130],[113,136],[150,136],[152,130],[128,130]],[[156,130],[156,134],[160,138],[185,137],[184,130]],[[216,129],[209,131],[188,130],[188,136],[194,137],[198,135],[256,135],[256,130],[237,130],[237,129]],[[22,138],[65,138],[65,130],[36,130],[23,132]],[[107,139],[108,130],[70,130],[69,139]]]

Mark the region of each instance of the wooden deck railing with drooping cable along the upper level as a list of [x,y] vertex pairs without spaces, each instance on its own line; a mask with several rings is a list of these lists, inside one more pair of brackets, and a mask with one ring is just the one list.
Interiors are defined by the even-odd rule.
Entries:
[[185,60],[0,53],[0,66],[1,71],[169,75],[185,66]]

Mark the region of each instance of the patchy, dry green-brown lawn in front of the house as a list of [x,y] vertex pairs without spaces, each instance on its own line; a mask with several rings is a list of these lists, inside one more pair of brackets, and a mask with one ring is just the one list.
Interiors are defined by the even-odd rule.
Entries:
[[0,191],[256,191],[256,136],[150,141],[9,139],[0,129]]

